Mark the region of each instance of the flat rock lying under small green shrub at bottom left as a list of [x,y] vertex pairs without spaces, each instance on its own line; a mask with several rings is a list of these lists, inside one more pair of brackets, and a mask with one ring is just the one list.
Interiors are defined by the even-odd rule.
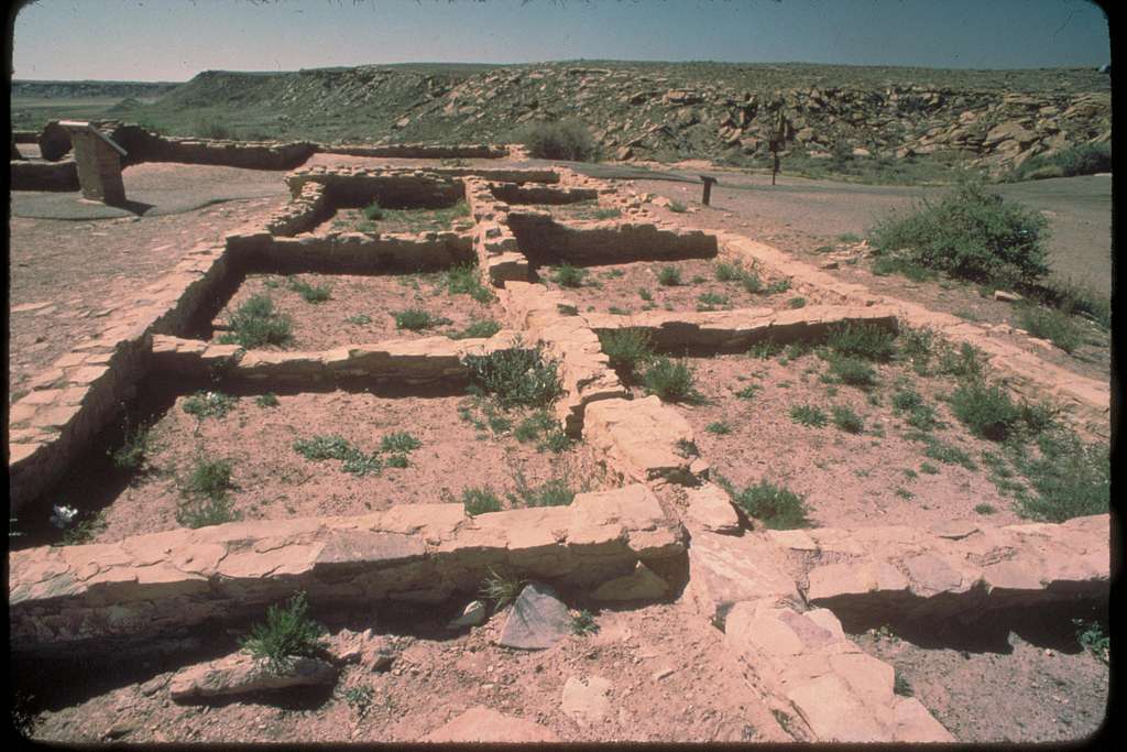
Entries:
[[319,658],[295,657],[289,671],[274,673],[249,654],[236,653],[180,670],[169,682],[168,692],[177,702],[206,702],[294,687],[323,687],[336,681],[337,669]]

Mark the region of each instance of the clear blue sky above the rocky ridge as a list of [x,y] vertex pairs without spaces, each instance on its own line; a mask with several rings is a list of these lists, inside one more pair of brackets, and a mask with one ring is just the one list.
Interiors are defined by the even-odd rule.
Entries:
[[1110,42],[1086,0],[38,0],[12,37],[17,79],[584,57],[1095,67]]

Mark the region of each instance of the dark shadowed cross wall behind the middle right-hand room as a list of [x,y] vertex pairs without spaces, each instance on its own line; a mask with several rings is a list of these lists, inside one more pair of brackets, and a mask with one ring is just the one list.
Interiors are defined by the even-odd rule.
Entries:
[[562,224],[548,212],[527,210],[511,211],[507,219],[522,253],[535,266],[711,258],[718,248],[715,235],[672,225],[613,220]]

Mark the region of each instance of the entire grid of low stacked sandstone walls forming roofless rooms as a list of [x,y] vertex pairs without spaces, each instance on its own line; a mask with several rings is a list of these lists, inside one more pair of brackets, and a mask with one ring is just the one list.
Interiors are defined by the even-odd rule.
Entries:
[[[239,383],[264,392],[279,384],[300,390],[349,381],[459,388],[468,381],[467,355],[514,346],[540,346],[557,362],[564,393],[554,417],[598,450],[618,488],[579,494],[566,507],[471,516],[460,504],[434,503],[15,551],[9,556],[15,653],[142,649],[201,625],[260,613],[295,589],[322,609],[443,604],[474,592],[490,567],[506,566],[522,578],[610,603],[681,598],[724,629],[748,691],[787,718],[797,738],[951,741],[919,700],[894,693],[891,666],[863,654],[843,631],[843,620],[859,612],[929,618],[1107,598],[1108,515],[997,529],[748,529],[710,480],[708,458],[684,450],[693,431],[680,409],[656,396],[629,399],[598,334],[632,326],[650,331],[665,348],[725,352],[763,339],[808,339],[844,322],[889,329],[926,325],[953,340],[973,342],[1013,388],[1053,397],[1077,427],[1103,435],[1106,384],[1064,378],[982,327],[875,297],[747,238],[665,224],[649,215],[639,196],[565,168],[313,168],[291,172],[286,183],[292,203],[264,227],[186,253],[170,274],[121,304],[106,331],[60,359],[12,405],[14,511],[42,503],[147,379],[181,393],[208,377],[219,378],[220,388]],[[472,228],[308,233],[336,209],[376,197],[387,206],[465,200]],[[622,219],[562,222],[522,209],[525,202],[593,197],[619,209]],[[823,302],[786,311],[612,317],[580,312],[565,292],[533,281],[544,259],[592,265],[710,258],[720,249],[787,275],[796,290],[816,291]],[[201,322],[214,317],[250,272],[355,273],[465,262],[497,292],[505,328],[492,337],[265,352],[198,336]],[[685,494],[684,508],[659,501],[658,492],[671,487]],[[636,587],[640,576],[660,586]]]

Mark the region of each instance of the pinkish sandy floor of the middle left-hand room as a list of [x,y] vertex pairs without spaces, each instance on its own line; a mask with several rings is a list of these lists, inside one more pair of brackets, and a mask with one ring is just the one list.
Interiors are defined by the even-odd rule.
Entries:
[[[291,289],[293,282],[327,286],[329,299],[310,303]],[[265,350],[320,351],[387,339],[433,337],[460,333],[473,321],[499,321],[503,316],[496,302],[483,304],[469,295],[447,294],[441,274],[294,274],[290,277],[251,274],[215,317],[213,326],[219,327],[215,337],[225,333],[231,313],[256,294],[267,295],[274,302],[274,310],[289,316],[293,322],[293,339],[289,344],[266,346]],[[418,331],[397,329],[393,315],[408,309],[425,310],[436,319],[450,321]]]

